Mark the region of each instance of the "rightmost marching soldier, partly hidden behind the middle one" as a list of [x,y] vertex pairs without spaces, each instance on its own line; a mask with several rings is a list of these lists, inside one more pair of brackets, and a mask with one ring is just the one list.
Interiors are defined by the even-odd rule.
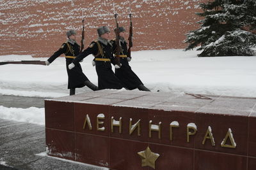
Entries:
[[[124,39],[125,29],[124,27],[118,27],[120,32],[120,63],[122,66],[118,69],[115,69],[115,74],[120,81],[124,84],[126,89],[133,90],[138,88],[143,91],[150,91],[143,85],[140,78],[132,71],[131,66],[129,66],[129,61],[131,57],[127,57],[127,42]],[[115,29],[116,31],[116,29]],[[114,55],[116,53],[116,39],[111,40],[113,45]]]

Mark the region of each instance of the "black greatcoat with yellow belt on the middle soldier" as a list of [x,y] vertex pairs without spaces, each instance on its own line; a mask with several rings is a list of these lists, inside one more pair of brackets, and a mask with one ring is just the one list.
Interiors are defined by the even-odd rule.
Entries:
[[[107,41],[106,41],[107,42]],[[111,62],[115,64],[113,57],[112,45],[108,43],[102,43],[102,41],[93,41],[83,53],[80,53],[76,59],[74,59],[74,64],[77,65],[80,60],[84,57],[93,54],[95,57],[95,67],[98,75],[98,87],[99,90],[102,89],[122,89],[123,85],[120,80],[115,76],[112,70]],[[101,48],[101,50],[99,49]],[[102,61],[97,59],[108,59],[110,61]]]

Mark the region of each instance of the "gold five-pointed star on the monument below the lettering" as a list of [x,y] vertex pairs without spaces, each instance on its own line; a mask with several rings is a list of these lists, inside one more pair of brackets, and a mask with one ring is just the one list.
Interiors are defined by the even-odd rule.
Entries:
[[151,152],[150,148],[147,147],[146,150],[138,152],[141,158],[141,167],[150,166],[155,169],[155,162],[159,157],[158,153]]

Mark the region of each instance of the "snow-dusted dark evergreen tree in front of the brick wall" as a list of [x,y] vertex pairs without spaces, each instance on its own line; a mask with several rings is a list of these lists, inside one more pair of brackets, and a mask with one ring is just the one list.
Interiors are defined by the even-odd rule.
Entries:
[[[256,0],[214,0],[201,3],[200,29],[186,34],[186,50],[200,47],[199,57],[250,56],[256,46]],[[254,33],[253,33],[254,30]]]

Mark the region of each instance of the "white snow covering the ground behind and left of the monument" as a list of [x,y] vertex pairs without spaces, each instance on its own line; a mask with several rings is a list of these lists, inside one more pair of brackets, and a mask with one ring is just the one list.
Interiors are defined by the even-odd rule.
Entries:
[[[188,92],[239,97],[256,97],[256,56],[254,57],[196,57],[196,50],[152,50],[132,52],[130,65],[148,89],[161,92]],[[6,60],[46,60],[30,55],[2,55]],[[97,85],[92,66],[93,56],[81,63],[90,81]],[[50,66],[6,64],[0,66],[0,94],[29,97],[67,96],[65,58],[59,57]],[[87,87],[77,93],[91,91]],[[0,117],[44,124],[38,118],[20,118],[22,111],[44,117],[44,109],[13,111],[0,106]],[[32,114],[33,115],[33,114]],[[41,118],[42,118],[41,117]],[[44,118],[42,118],[44,119]]]

